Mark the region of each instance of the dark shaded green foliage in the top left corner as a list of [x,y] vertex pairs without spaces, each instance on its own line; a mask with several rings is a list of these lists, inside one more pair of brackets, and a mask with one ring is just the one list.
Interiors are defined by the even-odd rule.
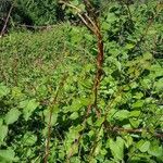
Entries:
[[0,3],[0,26],[4,24],[8,12],[13,5],[8,27],[20,25],[52,25],[64,20],[58,0],[2,0]]

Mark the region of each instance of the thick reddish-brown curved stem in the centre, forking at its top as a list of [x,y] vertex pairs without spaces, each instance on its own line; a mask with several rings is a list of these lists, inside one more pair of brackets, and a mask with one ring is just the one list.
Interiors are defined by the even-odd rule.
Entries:
[[[93,15],[93,13],[90,13],[90,16],[93,18],[91,18],[87,13],[89,13],[89,11],[92,9],[91,3],[89,0],[84,1],[85,5],[87,5],[87,13],[82,13],[82,11],[77,8],[74,7],[65,1],[60,1],[61,3],[66,4],[67,7],[71,7],[73,9],[76,10],[78,16],[80,17],[80,20],[83,21],[83,23],[93,33],[93,35],[97,37],[97,47],[98,47],[98,54],[97,54],[97,72],[96,72],[96,76],[95,76],[95,80],[93,80],[93,86],[92,86],[92,93],[93,93],[93,101],[91,101],[91,103],[89,103],[89,105],[87,106],[87,111],[86,111],[86,116],[85,120],[83,122],[83,125],[86,126],[86,122],[87,118],[90,114],[90,111],[92,109],[92,106],[96,108],[96,114],[98,117],[100,117],[100,112],[98,109],[98,90],[99,90],[99,86],[100,86],[100,82],[101,82],[101,77],[103,74],[102,71],[102,65],[103,65],[103,60],[104,60],[104,50],[103,50],[103,38],[102,38],[102,34],[100,30],[100,26],[98,24],[98,18]],[[84,16],[83,16],[84,15]],[[79,140],[82,139],[83,134],[79,135],[77,141],[75,143],[79,143]],[[71,155],[72,156],[72,155]],[[70,160],[70,156],[68,156]]]

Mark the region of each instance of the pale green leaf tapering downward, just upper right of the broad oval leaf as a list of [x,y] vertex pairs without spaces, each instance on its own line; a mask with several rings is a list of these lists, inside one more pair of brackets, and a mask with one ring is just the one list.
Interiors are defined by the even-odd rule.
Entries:
[[37,109],[39,102],[36,102],[36,99],[25,100],[20,103],[20,108],[23,109],[23,116],[26,121],[28,121],[29,116]]

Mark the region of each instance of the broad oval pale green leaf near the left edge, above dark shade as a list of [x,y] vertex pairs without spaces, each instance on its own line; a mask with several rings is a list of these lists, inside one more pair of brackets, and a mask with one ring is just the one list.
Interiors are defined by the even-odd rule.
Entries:
[[7,125],[10,125],[16,122],[20,115],[21,115],[21,112],[17,109],[11,109],[4,117]]

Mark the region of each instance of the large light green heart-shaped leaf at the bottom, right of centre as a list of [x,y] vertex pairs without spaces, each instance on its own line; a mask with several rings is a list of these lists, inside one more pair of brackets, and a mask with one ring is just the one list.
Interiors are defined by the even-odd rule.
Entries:
[[122,161],[124,158],[124,140],[121,137],[117,137],[116,141],[110,139],[109,147],[114,159]]

